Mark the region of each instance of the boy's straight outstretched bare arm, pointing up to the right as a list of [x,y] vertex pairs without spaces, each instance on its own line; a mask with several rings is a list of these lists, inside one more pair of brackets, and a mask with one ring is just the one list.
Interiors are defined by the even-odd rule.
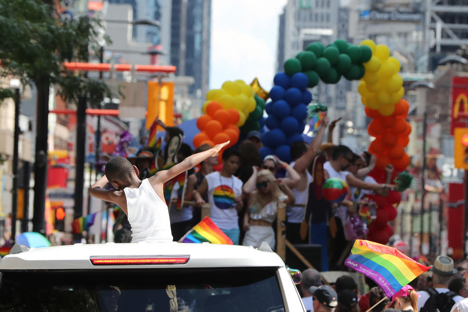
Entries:
[[215,147],[207,151],[196,153],[192,156],[188,156],[182,162],[179,162],[175,166],[171,167],[171,169],[159,171],[158,173],[156,173],[156,175],[150,177],[148,180],[150,181],[151,185],[155,185],[158,183],[165,183],[169,181],[170,179],[172,179],[173,177],[178,176],[182,172],[192,169],[193,167],[195,167],[196,165],[198,165],[200,162],[207,159],[208,157],[217,156],[219,151],[221,151],[223,147],[228,145],[229,142],[230,141],[217,144],[215,145]]

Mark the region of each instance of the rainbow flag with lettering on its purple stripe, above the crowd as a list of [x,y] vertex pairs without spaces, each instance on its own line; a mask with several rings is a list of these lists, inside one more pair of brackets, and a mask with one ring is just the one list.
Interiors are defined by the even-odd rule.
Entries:
[[430,269],[396,248],[362,239],[354,242],[345,266],[368,276],[389,298]]

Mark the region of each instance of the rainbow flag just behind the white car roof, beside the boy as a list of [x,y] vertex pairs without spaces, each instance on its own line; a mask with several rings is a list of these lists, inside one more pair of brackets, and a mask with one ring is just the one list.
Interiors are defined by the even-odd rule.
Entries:
[[203,243],[234,245],[233,241],[221,231],[215,223],[206,216],[192,230],[187,232],[179,243]]

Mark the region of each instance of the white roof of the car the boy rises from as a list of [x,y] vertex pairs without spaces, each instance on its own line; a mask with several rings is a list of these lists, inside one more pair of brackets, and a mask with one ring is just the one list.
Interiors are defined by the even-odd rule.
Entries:
[[[93,265],[90,257],[137,258],[154,256],[189,256],[186,264]],[[75,244],[30,249],[8,254],[0,261],[5,270],[87,270],[87,269],[144,269],[144,268],[235,268],[281,267],[283,260],[273,252],[253,247],[215,245],[209,243],[129,243]]]

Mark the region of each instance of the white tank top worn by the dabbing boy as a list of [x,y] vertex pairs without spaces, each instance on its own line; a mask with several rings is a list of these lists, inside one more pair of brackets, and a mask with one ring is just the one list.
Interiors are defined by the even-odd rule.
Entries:
[[148,179],[140,187],[123,189],[127,197],[128,222],[132,226],[132,243],[172,241],[171,223],[166,203],[159,198]]

